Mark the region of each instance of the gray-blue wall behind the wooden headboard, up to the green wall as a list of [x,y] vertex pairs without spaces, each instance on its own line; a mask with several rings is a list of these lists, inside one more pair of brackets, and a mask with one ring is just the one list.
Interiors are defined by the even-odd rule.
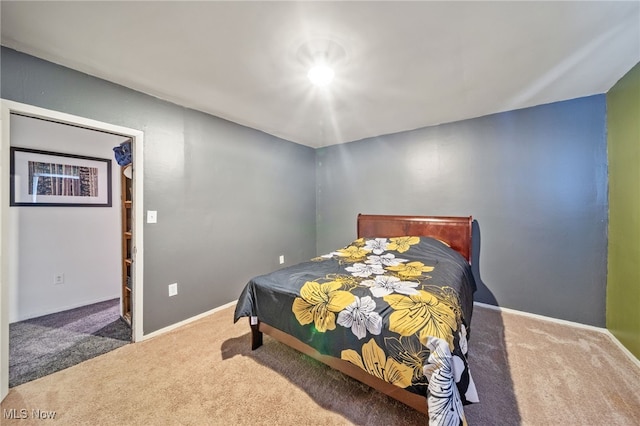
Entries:
[[476,300],[603,327],[604,95],[316,151],[318,253],[358,213],[473,215]]

